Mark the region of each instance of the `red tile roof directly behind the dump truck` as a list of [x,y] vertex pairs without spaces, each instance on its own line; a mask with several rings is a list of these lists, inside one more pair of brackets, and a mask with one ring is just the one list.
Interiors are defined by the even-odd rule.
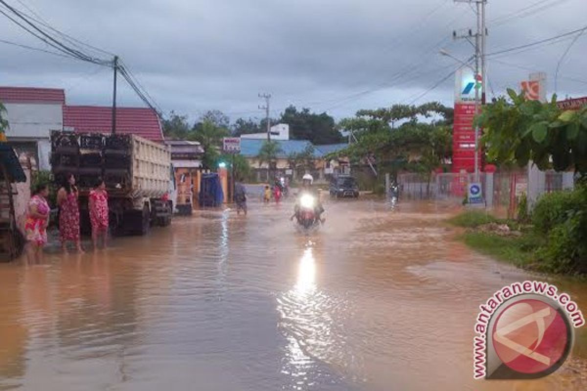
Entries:
[[[112,107],[63,106],[63,127],[73,128],[78,133],[110,133]],[[156,142],[164,140],[159,118],[150,108],[117,107],[116,132],[136,134]]]

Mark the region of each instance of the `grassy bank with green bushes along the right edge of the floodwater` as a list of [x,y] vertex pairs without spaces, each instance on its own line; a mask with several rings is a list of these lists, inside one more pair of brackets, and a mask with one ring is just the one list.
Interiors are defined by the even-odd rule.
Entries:
[[532,213],[507,220],[469,210],[449,220],[464,243],[518,267],[587,276],[587,185],[543,195]]

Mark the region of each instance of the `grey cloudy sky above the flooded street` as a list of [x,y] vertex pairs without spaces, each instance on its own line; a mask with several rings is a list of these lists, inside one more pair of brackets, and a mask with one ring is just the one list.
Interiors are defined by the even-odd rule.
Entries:
[[[452,104],[454,77],[438,83],[457,63],[438,50],[467,59],[471,45],[451,35],[475,26],[471,6],[452,0],[4,1],[116,53],[165,113],[193,120],[209,109],[233,120],[262,117],[258,93],[265,92],[273,96],[272,116],[289,104],[336,118],[393,103]],[[490,1],[487,52],[581,29],[585,15],[585,0]],[[531,71],[546,72],[553,93],[556,65],[576,36],[489,56],[489,97]],[[2,14],[0,39],[50,49]],[[2,42],[0,53],[0,85],[60,87],[69,104],[111,104],[107,67]],[[587,32],[561,63],[559,96],[587,95],[585,53]],[[119,85],[119,104],[141,105],[123,81]]]

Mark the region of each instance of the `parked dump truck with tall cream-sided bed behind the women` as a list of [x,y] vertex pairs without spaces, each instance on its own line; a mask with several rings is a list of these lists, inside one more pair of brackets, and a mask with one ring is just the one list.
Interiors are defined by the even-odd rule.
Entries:
[[112,234],[143,235],[171,223],[175,180],[166,145],[134,134],[53,131],[51,165],[57,183],[76,178],[82,233],[90,231],[87,199],[98,178],[106,183]]

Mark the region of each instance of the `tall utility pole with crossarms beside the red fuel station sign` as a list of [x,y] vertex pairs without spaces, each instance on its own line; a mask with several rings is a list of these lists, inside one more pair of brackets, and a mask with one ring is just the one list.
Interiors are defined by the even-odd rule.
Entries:
[[[487,0],[454,0],[457,3],[468,3],[477,6],[477,32],[473,34],[472,30],[468,30],[468,35],[458,36],[457,32],[453,32],[453,38],[467,39],[475,48],[475,116],[479,114],[481,104],[485,103],[485,36],[487,29],[485,28],[485,4]],[[475,38],[475,43],[471,42],[471,38]],[[479,96],[479,89],[483,88],[481,97]],[[475,182],[479,182],[479,127],[475,125]]]

